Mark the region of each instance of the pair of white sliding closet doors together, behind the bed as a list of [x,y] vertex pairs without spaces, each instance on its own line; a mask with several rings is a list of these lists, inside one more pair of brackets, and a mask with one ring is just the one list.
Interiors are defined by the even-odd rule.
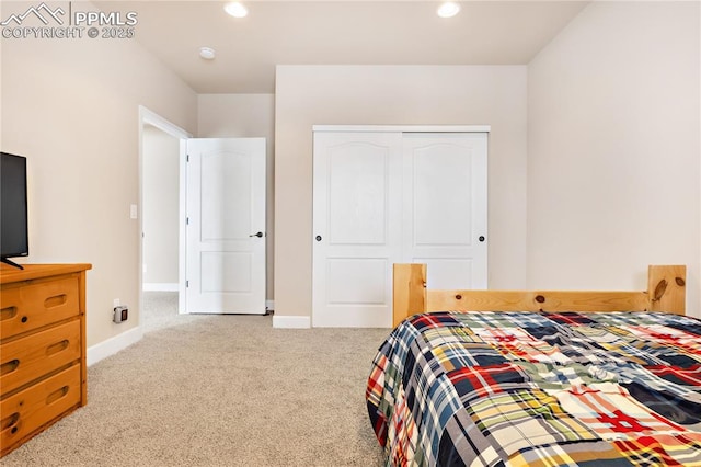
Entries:
[[312,324],[390,327],[392,263],[486,288],[487,133],[314,132]]

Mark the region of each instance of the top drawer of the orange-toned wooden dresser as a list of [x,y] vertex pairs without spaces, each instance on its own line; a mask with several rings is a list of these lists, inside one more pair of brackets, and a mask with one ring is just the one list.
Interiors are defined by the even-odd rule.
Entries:
[[2,288],[0,339],[4,340],[80,312],[78,276]]

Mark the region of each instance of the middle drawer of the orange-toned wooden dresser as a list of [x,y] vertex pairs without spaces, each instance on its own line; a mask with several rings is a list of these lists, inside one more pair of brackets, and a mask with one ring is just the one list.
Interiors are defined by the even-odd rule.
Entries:
[[26,335],[0,345],[0,387],[9,394],[80,358],[80,321]]

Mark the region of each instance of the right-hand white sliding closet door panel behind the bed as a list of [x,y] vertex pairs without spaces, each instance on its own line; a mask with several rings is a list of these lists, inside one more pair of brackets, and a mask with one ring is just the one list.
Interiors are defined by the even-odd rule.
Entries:
[[428,264],[429,288],[486,288],[486,133],[405,133],[405,262]]

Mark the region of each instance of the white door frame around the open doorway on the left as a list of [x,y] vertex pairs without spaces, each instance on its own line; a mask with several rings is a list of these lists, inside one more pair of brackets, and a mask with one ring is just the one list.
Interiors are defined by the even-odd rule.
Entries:
[[[172,122],[163,118],[156,112],[145,107],[143,105],[139,105],[139,206],[143,206],[143,126],[151,125],[161,132],[173,136],[174,138],[180,139],[180,153],[179,153],[179,166],[180,166],[180,180],[179,180],[179,219],[181,219],[180,229],[179,229],[179,242],[177,242],[177,312],[186,314],[186,304],[185,304],[185,223],[183,219],[185,218],[185,189],[186,189],[186,141],[187,138],[192,138],[193,135],[187,130],[181,128],[180,126],[173,124]],[[142,210],[142,209],[139,209]],[[139,218],[139,232],[141,238],[139,239],[139,309],[143,309],[143,216],[138,215]]]

